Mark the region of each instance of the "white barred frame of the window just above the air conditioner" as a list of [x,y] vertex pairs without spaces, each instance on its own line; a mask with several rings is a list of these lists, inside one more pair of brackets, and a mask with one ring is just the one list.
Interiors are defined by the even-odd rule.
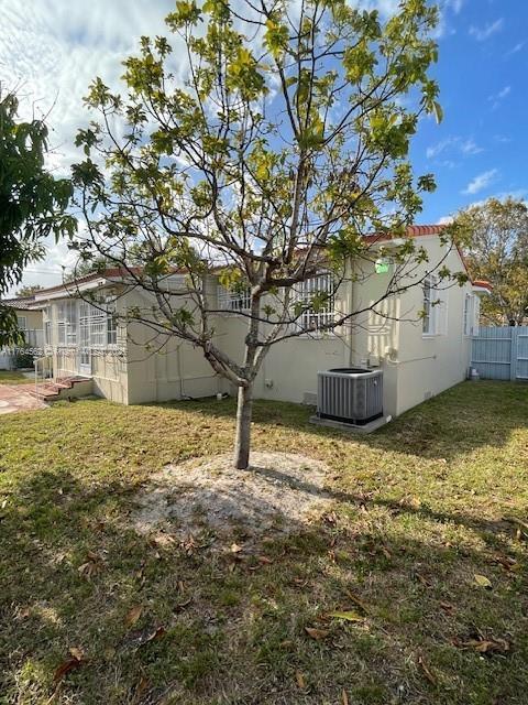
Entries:
[[331,272],[319,272],[299,282],[293,289],[294,304],[308,304],[316,294],[321,292],[329,294],[326,304],[318,312],[307,306],[296,322],[296,326],[301,328],[308,337],[333,333],[333,329],[326,329],[324,326],[336,321],[336,281]]

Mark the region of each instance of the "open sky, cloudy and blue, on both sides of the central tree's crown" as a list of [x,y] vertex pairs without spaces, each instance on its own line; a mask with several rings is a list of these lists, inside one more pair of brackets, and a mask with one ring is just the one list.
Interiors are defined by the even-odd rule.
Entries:
[[[387,15],[397,0],[351,0]],[[432,172],[420,223],[438,223],[487,198],[528,194],[528,0],[441,0],[438,29],[444,120],[420,121],[411,158],[417,174]],[[81,98],[99,75],[116,85],[121,61],[142,34],[166,33],[172,0],[0,0],[0,83],[26,96],[23,110],[47,112],[51,166],[68,173],[78,159],[73,140],[87,120]],[[48,243],[44,262],[24,283],[53,285],[73,256]]]

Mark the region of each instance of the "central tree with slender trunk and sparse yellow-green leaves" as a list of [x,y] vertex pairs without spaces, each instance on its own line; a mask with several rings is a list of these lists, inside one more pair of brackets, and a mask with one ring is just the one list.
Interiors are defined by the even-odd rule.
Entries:
[[[166,18],[175,58],[165,37],[142,37],[124,62],[125,97],[100,78],[90,87],[86,102],[99,117],[77,135],[88,237],[76,247],[121,263],[155,296],[158,318],[129,317],[201,348],[238,387],[239,468],[267,351],[306,334],[304,314],[351,275],[350,258],[369,259],[363,234],[404,236],[420,194],[435,188],[407,158],[420,116],[441,117],[428,76],[436,21],[426,0],[404,0],[387,21],[345,0],[178,0]],[[425,254],[406,239],[394,257]],[[248,292],[248,311],[230,314],[246,322],[240,359],[215,343],[218,307],[204,282],[219,268],[224,286]],[[336,290],[299,297],[321,268]],[[187,272],[185,303],[164,285],[175,269]],[[393,280],[387,296],[403,290]]]

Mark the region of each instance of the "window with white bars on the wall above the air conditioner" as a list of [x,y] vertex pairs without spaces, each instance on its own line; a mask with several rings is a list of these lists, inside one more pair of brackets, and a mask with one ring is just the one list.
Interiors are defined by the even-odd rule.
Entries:
[[294,286],[294,305],[302,304],[297,325],[306,332],[324,330],[336,319],[336,282],[331,272],[321,272]]

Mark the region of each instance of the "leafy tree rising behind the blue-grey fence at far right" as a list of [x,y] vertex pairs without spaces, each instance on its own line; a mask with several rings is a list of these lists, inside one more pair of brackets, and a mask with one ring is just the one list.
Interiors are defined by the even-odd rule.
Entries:
[[495,325],[522,325],[528,317],[528,207],[513,197],[490,198],[455,218],[473,279],[493,284],[482,316]]

